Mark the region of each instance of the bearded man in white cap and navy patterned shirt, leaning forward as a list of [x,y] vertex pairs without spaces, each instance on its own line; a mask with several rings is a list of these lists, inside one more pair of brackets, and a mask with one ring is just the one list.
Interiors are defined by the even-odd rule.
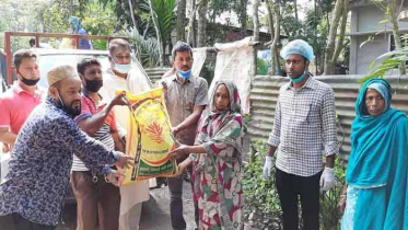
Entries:
[[132,160],[121,152],[109,151],[73,120],[81,113],[81,80],[73,67],[55,68],[47,78],[48,96],[21,129],[10,172],[0,185],[0,226],[9,218],[16,230],[56,228],[62,216],[72,153],[116,185],[121,174],[106,164],[124,168]]

